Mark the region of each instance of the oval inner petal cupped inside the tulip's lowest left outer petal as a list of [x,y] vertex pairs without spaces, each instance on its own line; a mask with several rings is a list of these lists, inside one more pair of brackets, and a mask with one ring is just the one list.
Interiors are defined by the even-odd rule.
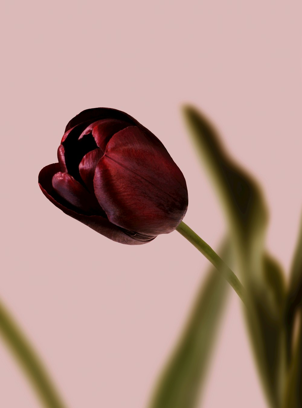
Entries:
[[68,173],[56,173],[52,180],[54,190],[73,206],[81,209],[85,213],[101,212],[99,203],[95,196],[88,193],[82,186]]

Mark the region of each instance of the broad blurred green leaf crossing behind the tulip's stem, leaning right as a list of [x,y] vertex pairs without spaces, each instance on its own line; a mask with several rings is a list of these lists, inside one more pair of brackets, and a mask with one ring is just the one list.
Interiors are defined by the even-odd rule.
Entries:
[[[230,262],[229,246],[221,251]],[[152,396],[150,408],[193,408],[199,398],[205,372],[225,310],[228,284],[214,267],[196,297],[191,317]]]

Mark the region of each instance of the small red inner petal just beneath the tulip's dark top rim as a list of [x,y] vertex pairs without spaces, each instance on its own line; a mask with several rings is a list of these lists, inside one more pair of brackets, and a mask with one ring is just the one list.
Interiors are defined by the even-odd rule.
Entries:
[[122,129],[130,126],[128,122],[116,119],[103,119],[98,120],[90,124],[84,132],[81,133],[79,140],[82,139],[84,135],[92,133],[97,146],[102,149],[103,153],[106,149],[107,143],[111,137]]

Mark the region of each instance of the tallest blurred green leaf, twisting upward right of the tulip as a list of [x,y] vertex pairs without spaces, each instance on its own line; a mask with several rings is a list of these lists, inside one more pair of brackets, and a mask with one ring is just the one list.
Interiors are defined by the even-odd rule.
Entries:
[[245,313],[259,373],[271,406],[279,407],[283,304],[276,299],[284,297],[284,287],[282,271],[264,251],[268,213],[262,192],[231,160],[205,116],[192,106],[185,106],[184,115],[223,204],[236,266],[249,296]]

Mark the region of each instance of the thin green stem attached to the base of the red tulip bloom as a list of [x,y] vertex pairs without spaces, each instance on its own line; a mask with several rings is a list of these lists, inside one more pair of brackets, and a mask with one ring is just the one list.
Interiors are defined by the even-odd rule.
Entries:
[[195,248],[197,248],[198,251],[201,252],[215,266],[215,268],[223,275],[223,277],[227,280],[227,282],[231,285],[242,302],[245,304],[245,288],[242,286],[234,272],[227,266],[227,264],[225,264],[225,262],[223,262],[216,252],[184,222],[179,224],[176,231],[191,242],[191,244],[193,244]]

